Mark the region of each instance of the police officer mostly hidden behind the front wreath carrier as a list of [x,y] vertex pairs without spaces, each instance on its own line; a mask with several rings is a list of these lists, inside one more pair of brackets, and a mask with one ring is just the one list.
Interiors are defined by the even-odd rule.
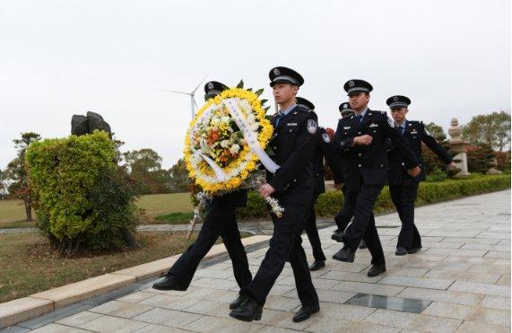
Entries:
[[[296,100],[299,106],[311,110],[312,112],[315,110],[315,105],[305,98],[297,97]],[[317,145],[315,145],[315,152],[313,153],[313,180],[315,188],[308,208],[308,219],[306,220],[306,233],[308,234],[308,239],[313,250],[313,258],[315,259],[309,267],[311,271],[325,267],[325,254],[322,250],[320,237],[318,236],[317,215],[315,213],[317,199],[321,193],[325,192],[324,157],[329,165],[329,169],[333,172],[334,184],[343,183],[342,159],[339,154],[332,152],[331,138],[325,131],[325,128],[318,127]]]

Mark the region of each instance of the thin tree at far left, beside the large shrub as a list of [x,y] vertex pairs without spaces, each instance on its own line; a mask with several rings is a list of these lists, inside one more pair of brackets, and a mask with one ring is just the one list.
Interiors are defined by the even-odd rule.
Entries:
[[8,187],[9,197],[23,200],[27,221],[32,220],[32,193],[27,177],[25,153],[31,143],[39,141],[40,139],[41,136],[34,132],[22,133],[20,139],[14,139],[13,143],[18,151],[18,155],[13,161],[7,164],[7,169],[4,170],[3,175],[4,180],[10,180],[12,182]]

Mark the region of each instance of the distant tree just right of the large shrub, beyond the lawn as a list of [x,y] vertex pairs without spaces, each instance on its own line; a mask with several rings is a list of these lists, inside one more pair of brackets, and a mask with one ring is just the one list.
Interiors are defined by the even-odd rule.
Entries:
[[161,157],[158,153],[144,148],[123,155],[130,175],[140,184],[143,194],[169,192],[170,173],[161,169]]

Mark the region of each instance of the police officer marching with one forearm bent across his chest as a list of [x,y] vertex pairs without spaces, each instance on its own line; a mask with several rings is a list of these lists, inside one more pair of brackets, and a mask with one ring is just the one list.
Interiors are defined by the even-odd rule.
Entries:
[[344,206],[351,207],[354,221],[343,232],[345,244],[333,259],[353,262],[355,251],[361,239],[364,239],[372,256],[368,276],[377,276],[386,271],[384,252],[373,216],[373,206],[387,180],[386,138],[404,157],[405,167],[412,176],[420,173],[420,167],[386,112],[369,110],[369,92],[373,90],[371,84],[363,80],[350,80],[343,88],[349,95],[355,115],[340,120],[333,146],[345,158],[347,196]]

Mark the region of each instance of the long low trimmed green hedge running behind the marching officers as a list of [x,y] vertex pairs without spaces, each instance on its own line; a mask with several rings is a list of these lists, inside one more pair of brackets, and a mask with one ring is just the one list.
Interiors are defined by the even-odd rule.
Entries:
[[[459,197],[474,196],[482,193],[490,193],[510,188],[510,175],[474,176],[468,179],[445,180],[439,182],[421,182],[416,198],[416,206],[434,204],[441,201],[456,199]],[[333,217],[343,205],[342,191],[329,191],[318,197],[315,210],[317,216]],[[391,201],[389,188],[382,189],[377,198],[374,212],[384,213],[395,210]],[[247,207],[239,208],[239,218],[267,217],[265,201],[259,194],[249,192]]]

